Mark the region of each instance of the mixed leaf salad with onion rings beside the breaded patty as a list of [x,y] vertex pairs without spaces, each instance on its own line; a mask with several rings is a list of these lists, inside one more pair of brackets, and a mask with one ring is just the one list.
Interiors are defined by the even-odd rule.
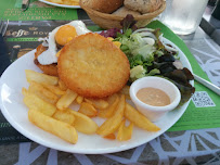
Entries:
[[190,80],[192,73],[182,66],[178,50],[163,41],[159,28],[137,28],[132,15],[127,15],[122,22],[122,31],[117,28],[102,31],[104,37],[113,37],[121,43],[120,50],[130,63],[130,79],[128,84],[145,76],[159,76],[172,81],[181,92],[181,103],[186,102],[195,92]]

